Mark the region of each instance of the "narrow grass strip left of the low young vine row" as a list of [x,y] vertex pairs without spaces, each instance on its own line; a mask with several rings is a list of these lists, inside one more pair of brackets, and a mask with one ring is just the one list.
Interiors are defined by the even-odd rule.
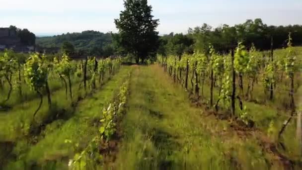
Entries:
[[[119,85],[128,76],[129,67],[122,69],[101,90],[91,97],[82,100],[76,108],[75,114],[66,122],[58,120],[49,124],[43,132],[45,138],[27,150],[20,151],[16,147],[14,152],[22,156],[21,159],[8,164],[7,169],[14,169],[18,165],[25,169],[34,164],[40,168],[67,168],[68,159],[73,158],[74,152],[85,148],[87,143],[98,131],[98,121],[103,107],[113,98]],[[26,148],[26,147],[25,147]]]

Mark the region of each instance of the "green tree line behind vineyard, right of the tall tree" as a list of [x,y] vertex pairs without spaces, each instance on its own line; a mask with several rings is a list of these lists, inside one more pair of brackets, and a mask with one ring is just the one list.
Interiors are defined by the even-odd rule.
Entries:
[[250,48],[252,43],[258,50],[286,47],[289,32],[293,44],[302,45],[302,25],[268,26],[261,19],[248,19],[242,24],[229,26],[224,24],[217,28],[204,23],[202,26],[189,28],[187,34],[163,35],[159,39],[158,53],[162,55],[180,55],[193,53],[194,50],[208,50],[212,44],[218,52],[228,52],[238,41]]

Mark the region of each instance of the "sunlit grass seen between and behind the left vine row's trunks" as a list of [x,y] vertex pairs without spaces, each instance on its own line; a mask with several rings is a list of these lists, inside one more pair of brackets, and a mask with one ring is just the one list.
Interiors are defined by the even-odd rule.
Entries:
[[[81,95],[83,91],[78,90],[78,84],[73,85],[74,100],[76,96]],[[65,89],[61,88],[52,92],[51,98],[54,108],[66,109],[66,113],[70,112],[71,100],[66,100]],[[11,110],[0,114],[0,121],[5,124],[0,125],[0,141],[14,142],[22,136],[29,134],[30,126],[33,122],[33,114],[38,108],[40,98],[35,98],[21,104],[15,105]],[[41,124],[50,114],[56,114],[49,111],[47,96],[43,97],[42,107],[35,116],[37,124]],[[64,113],[65,114],[65,113]]]

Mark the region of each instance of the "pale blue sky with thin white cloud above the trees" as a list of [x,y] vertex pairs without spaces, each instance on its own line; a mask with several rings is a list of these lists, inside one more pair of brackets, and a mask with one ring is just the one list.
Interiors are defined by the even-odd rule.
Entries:
[[[269,25],[302,24],[302,0],[149,0],[149,4],[160,19],[160,34],[255,18]],[[121,10],[123,0],[0,0],[0,27],[16,25],[36,35],[116,32],[113,19]]]

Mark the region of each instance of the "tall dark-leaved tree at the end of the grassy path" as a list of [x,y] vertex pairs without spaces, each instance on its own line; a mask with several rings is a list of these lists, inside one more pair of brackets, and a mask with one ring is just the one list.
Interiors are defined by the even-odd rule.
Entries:
[[147,0],[125,0],[125,10],[115,19],[119,30],[119,45],[135,56],[136,63],[155,53],[158,47],[158,19],[151,15],[152,7]]

